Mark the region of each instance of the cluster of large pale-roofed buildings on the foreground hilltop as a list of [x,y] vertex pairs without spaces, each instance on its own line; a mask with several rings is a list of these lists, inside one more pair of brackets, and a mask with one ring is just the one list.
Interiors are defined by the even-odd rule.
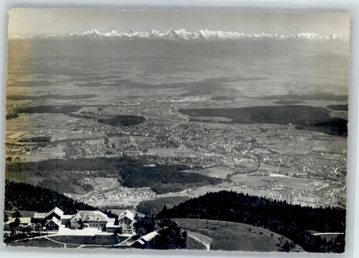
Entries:
[[[13,222],[9,220],[7,224]],[[48,231],[58,231],[60,227],[72,229],[97,228],[105,232],[114,232],[122,228],[122,233],[133,234],[134,214],[125,210],[118,217],[110,218],[98,210],[81,210],[73,215],[65,215],[64,212],[55,207],[47,213],[35,212],[32,217],[20,217],[21,226],[41,223]],[[63,226],[62,226],[63,225]]]

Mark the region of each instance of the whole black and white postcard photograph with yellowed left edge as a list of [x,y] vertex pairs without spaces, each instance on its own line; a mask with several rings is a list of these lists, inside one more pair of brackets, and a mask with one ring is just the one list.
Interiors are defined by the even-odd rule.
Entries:
[[343,253],[349,21],[10,9],[4,245]]

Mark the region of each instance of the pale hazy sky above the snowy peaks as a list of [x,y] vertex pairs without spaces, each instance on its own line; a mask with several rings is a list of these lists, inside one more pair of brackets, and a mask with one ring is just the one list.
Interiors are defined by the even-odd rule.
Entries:
[[245,33],[296,34],[314,32],[349,37],[349,14],[264,13],[216,11],[114,11],[85,9],[11,9],[9,35],[66,34],[97,29],[128,32],[184,28]]

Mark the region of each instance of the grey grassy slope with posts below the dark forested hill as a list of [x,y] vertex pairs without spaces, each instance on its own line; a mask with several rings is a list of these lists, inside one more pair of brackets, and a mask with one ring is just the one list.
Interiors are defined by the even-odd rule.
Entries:
[[[203,234],[211,237],[213,242],[211,243],[211,250],[228,250],[228,251],[260,251],[260,252],[273,252],[282,251],[282,249],[276,244],[280,243],[278,240],[282,235],[271,232],[269,230],[254,227],[245,224],[236,224],[233,222],[221,222],[221,227],[216,228],[217,221],[209,221],[208,229],[206,220],[195,220],[195,219],[172,219],[177,223],[183,230],[189,230],[196,233]],[[197,221],[197,229],[196,227]],[[186,223],[186,227],[185,227]],[[248,229],[251,229],[249,231]],[[263,232],[260,235],[260,232]],[[273,233],[273,236],[271,236]],[[285,243],[286,238],[284,238]],[[290,242],[290,240],[288,240]],[[304,252],[303,248],[296,246],[292,252]]]

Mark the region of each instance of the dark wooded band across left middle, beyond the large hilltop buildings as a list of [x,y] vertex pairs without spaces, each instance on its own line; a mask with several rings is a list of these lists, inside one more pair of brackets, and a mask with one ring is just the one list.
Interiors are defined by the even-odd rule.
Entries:
[[[222,182],[221,178],[185,172],[193,169],[188,165],[156,164],[155,166],[147,166],[152,163],[153,160],[149,160],[146,156],[14,162],[6,164],[5,177],[23,183],[29,183],[29,178],[38,177],[37,181],[51,178],[49,182],[46,181],[42,185],[59,191],[65,189],[62,186],[69,185],[67,177],[72,177],[71,174],[78,179],[81,177],[81,173],[84,173],[84,177],[88,177],[87,172],[91,172],[93,176],[118,178],[118,181],[126,187],[151,187],[158,193],[182,191],[193,187],[193,185],[198,187],[216,185]],[[75,173],[70,174],[70,172]],[[81,185],[80,187],[84,186]],[[71,189],[66,191],[71,191]]]

